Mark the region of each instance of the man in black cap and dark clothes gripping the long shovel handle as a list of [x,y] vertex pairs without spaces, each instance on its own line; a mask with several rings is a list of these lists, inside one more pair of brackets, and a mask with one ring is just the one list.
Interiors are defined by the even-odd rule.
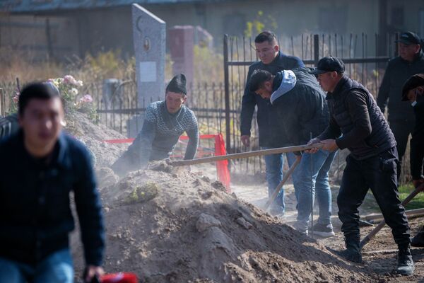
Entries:
[[322,150],[351,151],[337,197],[338,217],[346,241],[346,250],[341,253],[348,260],[362,262],[358,207],[371,188],[399,247],[396,270],[401,275],[412,275],[408,219],[397,190],[396,141],[370,92],[344,75],[344,70],[341,59],[324,57],[317,69],[311,71],[327,91],[330,122],[322,134],[309,142],[323,144]]

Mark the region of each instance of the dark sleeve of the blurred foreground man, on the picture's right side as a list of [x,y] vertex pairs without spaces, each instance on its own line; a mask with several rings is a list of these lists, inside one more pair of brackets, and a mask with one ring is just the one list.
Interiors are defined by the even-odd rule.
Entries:
[[101,266],[105,250],[105,226],[92,161],[90,154],[82,145],[73,153],[73,158],[78,158],[78,162],[75,162],[75,171],[78,175],[73,191],[86,265]]

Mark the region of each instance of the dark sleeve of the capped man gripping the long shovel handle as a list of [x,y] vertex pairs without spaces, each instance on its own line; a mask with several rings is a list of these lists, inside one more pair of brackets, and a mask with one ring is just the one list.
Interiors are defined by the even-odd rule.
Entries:
[[350,132],[336,139],[339,149],[346,149],[362,141],[371,134],[370,113],[367,108],[367,98],[365,93],[351,91],[346,98],[348,114],[353,122]]

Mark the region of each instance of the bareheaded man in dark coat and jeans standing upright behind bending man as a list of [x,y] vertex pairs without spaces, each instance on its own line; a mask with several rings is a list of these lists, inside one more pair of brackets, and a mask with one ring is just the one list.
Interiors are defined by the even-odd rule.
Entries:
[[[250,146],[250,130],[252,128],[252,118],[254,109],[257,106],[257,122],[259,126],[259,146],[262,149],[271,149],[288,144],[288,141],[282,139],[278,133],[278,124],[274,123],[275,115],[271,110],[269,100],[255,95],[249,90],[250,76],[254,70],[262,69],[275,75],[278,71],[304,67],[301,59],[294,56],[288,56],[281,52],[278,47],[276,35],[270,31],[259,33],[254,39],[259,62],[249,67],[247,74],[245,93],[242,98],[241,112],[241,140],[245,146]],[[269,196],[272,195],[277,185],[283,179],[283,154],[273,154],[264,156],[266,163],[266,180],[268,182]],[[276,197],[272,204],[271,213],[278,215],[284,213],[284,193],[281,190],[280,195]]]

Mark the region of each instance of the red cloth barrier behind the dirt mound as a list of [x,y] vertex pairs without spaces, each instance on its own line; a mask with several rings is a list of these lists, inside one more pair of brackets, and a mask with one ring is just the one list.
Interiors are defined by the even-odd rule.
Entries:
[[[187,140],[189,137],[181,136],[180,140]],[[201,134],[200,139],[215,139],[215,156],[225,155],[227,151],[225,150],[225,142],[223,134]],[[105,142],[110,144],[125,144],[133,142],[134,139],[107,139]],[[227,192],[231,192],[230,188],[230,171],[228,171],[228,160],[217,161],[216,162],[216,172],[218,175],[218,180],[225,185]]]

